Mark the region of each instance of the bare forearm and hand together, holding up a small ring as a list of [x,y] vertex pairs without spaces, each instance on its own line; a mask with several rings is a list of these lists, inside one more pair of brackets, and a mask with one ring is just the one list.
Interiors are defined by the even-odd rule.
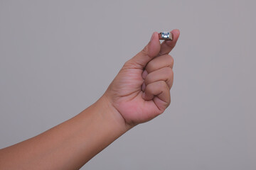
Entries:
[[0,149],[0,169],[80,169],[139,123],[160,115],[171,103],[174,40],[153,33],[144,49],[125,62],[105,94],[74,118],[46,132]]

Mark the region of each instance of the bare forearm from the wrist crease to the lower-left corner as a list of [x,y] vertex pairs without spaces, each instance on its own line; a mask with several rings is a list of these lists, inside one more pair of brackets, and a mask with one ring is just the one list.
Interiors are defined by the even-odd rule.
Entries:
[[0,150],[1,169],[79,169],[129,130],[102,97],[74,118]]

